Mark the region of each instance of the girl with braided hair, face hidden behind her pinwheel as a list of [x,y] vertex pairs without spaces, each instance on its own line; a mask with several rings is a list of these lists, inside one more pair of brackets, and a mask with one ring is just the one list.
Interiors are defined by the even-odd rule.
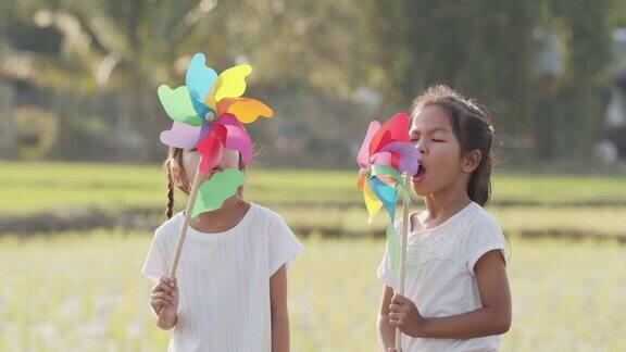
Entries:
[[[167,219],[154,234],[142,273],[156,326],[174,329],[168,351],[289,351],[287,269],[303,247],[283,217],[247,202],[241,187],[215,211],[192,217],[176,278],[167,277],[184,212],[174,214],[174,187],[189,194],[198,171],[196,148],[170,147]],[[208,173],[246,171],[238,151]]]

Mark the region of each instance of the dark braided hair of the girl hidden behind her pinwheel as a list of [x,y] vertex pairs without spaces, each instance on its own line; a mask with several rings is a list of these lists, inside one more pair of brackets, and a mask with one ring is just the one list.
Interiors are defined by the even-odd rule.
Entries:
[[[167,158],[163,163],[165,174],[167,175],[167,205],[165,208],[165,217],[167,219],[172,218],[174,212],[174,185],[187,194],[191,192],[192,185],[189,185],[187,181],[185,168],[183,167],[183,152],[184,149],[168,147]],[[241,158],[239,158],[239,169],[246,169],[246,164],[243,164]],[[239,188],[239,197],[242,196],[243,189]]]

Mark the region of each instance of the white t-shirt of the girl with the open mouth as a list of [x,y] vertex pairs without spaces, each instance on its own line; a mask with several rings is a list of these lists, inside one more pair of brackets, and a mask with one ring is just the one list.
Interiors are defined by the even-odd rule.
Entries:
[[[428,216],[417,214],[418,227]],[[402,222],[393,226],[401,234]],[[404,296],[416,303],[425,317],[441,317],[480,309],[480,293],[474,273],[476,262],[491,250],[506,261],[505,239],[498,222],[477,203],[428,229],[413,229],[406,240]],[[386,250],[378,278],[397,291],[397,279]],[[402,335],[402,351],[498,351],[500,336],[475,339],[424,339]]]

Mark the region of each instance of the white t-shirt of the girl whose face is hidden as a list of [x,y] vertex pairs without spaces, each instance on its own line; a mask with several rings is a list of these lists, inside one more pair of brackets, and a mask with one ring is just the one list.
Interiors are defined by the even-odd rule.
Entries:
[[[168,275],[185,215],[154,232],[141,273]],[[176,272],[178,323],[167,351],[271,351],[270,277],[303,250],[275,212],[251,204],[231,229],[203,234],[191,226]]]

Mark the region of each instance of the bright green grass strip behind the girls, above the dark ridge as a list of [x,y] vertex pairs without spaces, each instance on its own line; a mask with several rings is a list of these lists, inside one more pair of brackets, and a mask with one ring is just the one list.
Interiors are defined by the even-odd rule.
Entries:
[[[249,172],[247,194],[266,204],[354,204],[354,172]],[[162,206],[165,176],[159,166],[84,163],[0,162],[1,214],[28,214],[59,208]],[[497,174],[496,202],[626,202],[626,179],[581,176]],[[181,199],[181,198],[179,198]]]

